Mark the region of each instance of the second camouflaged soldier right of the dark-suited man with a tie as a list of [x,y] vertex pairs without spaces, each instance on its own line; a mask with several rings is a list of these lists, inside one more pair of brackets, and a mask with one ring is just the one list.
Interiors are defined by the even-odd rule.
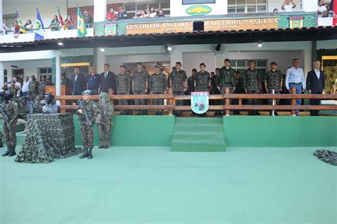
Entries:
[[[132,76],[132,92],[133,94],[146,94],[148,82],[149,82],[149,75],[142,71],[143,65],[141,63],[137,64],[137,71],[134,72]],[[135,99],[134,100],[135,105],[144,105],[145,100],[144,99]],[[147,112],[144,110],[137,110],[137,115],[144,115]]]

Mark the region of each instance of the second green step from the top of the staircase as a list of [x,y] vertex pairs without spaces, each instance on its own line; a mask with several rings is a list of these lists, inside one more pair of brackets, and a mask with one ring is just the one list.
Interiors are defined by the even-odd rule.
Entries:
[[223,133],[223,125],[174,125],[174,133]]

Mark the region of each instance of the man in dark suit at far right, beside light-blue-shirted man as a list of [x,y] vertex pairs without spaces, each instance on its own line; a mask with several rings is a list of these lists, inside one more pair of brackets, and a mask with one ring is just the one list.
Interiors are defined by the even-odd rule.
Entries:
[[[323,71],[319,69],[321,62],[319,60],[314,61],[314,69],[308,72],[306,77],[306,89],[309,94],[323,94],[325,88],[325,77]],[[310,99],[310,105],[321,104],[320,99]],[[311,110],[311,116],[319,116],[319,110]]]

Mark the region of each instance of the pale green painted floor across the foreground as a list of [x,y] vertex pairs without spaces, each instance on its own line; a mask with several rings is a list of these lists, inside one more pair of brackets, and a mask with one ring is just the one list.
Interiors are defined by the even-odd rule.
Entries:
[[1,157],[0,223],[337,223],[337,169],[314,150],[112,147],[50,164]]

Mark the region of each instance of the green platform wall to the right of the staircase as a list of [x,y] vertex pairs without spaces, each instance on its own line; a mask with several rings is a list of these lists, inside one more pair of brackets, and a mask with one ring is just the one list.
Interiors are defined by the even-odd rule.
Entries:
[[225,116],[230,147],[335,147],[337,117]]

